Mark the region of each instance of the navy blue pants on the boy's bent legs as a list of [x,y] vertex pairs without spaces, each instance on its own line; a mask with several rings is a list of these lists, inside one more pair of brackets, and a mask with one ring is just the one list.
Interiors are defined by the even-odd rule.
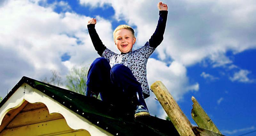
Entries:
[[86,85],[86,94],[100,93],[102,101],[122,104],[133,110],[136,110],[139,101],[145,103],[141,85],[133,76],[132,71],[123,64],[115,64],[111,68],[104,57],[93,61],[88,71]]

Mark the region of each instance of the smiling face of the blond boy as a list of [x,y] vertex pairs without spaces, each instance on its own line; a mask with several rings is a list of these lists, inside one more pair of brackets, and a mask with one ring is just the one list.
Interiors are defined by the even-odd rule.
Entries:
[[115,44],[117,49],[123,53],[132,51],[132,46],[136,38],[133,37],[132,32],[127,29],[120,29],[115,33]]

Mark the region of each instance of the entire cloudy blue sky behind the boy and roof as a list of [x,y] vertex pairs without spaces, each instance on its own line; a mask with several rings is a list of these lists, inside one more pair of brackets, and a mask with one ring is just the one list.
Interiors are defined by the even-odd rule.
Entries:
[[[193,125],[194,96],[225,135],[256,130],[256,2],[163,1],[168,5],[164,41],[147,64],[149,86],[161,80]],[[140,48],[153,34],[158,1],[28,0],[0,2],[0,96],[22,76],[44,79],[51,70],[65,75],[99,57],[87,32],[96,30],[107,48],[119,53],[112,32],[120,24],[135,29]],[[154,99],[151,115],[166,114]],[[256,135],[256,132],[249,135]]]

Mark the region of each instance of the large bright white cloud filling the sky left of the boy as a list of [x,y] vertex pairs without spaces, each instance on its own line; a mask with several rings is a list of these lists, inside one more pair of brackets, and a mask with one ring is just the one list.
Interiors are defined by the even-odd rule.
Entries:
[[[67,3],[38,5],[38,1],[5,1],[0,6],[0,75],[4,82],[0,96],[6,95],[22,76],[44,79],[51,76],[51,70],[65,77],[74,65],[89,65],[100,57],[92,46],[87,33],[90,17],[73,12],[58,14],[54,6],[69,8]],[[98,19],[99,33],[106,46],[112,46],[111,23]],[[77,45],[80,40],[82,44]],[[61,62],[61,56],[68,52],[70,60]]]

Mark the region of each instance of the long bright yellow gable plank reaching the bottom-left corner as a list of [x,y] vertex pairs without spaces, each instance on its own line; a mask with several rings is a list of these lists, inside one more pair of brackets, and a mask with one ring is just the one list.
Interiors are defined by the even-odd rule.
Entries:
[[36,123],[31,125],[25,125],[21,127],[15,127],[10,129],[4,129],[0,135],[26,135],[26,136],[35,136],[35,135],[50,135],[56,133],[67,133],[73,132],[64,118],[46,121],[42,123]]

